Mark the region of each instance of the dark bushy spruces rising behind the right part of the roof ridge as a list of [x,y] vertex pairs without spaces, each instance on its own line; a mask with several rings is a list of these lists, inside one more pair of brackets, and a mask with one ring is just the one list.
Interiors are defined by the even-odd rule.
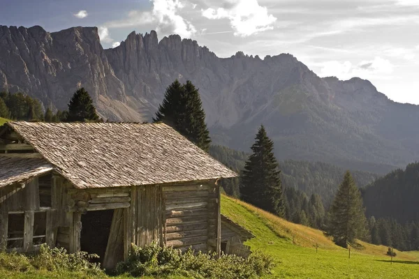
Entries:
[[185,84],[175,80],[168,86],[153,121],[172,126],[204,151],[210,148],[210,133],[199,91],[189,80]]

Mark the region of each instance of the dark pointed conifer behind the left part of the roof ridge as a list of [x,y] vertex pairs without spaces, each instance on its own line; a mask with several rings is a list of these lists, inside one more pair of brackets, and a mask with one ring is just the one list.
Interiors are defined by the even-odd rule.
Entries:
[[89,93],[84,88],[75,91],[68,103],[67,122],[98,122],[100,117],[96,113]]

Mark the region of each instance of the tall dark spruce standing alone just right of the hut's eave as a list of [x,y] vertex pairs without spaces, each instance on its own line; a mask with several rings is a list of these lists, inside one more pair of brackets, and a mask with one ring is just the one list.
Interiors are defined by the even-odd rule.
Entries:
[[274,143],[267,137],[265,127],[260,126],[256,142],[251,146],[253,153],[244,166],[241,176],[242,198],[260,209],[284,216],[281,177]]

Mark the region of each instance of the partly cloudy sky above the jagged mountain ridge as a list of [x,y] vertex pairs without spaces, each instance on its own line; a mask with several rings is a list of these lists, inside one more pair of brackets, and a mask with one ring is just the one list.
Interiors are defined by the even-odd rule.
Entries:
[[0,24],[96,26],[104,48],[156,30],[220,57],[293,54],[321,77],[360,77],[419,104],[419,0],[0,0]]

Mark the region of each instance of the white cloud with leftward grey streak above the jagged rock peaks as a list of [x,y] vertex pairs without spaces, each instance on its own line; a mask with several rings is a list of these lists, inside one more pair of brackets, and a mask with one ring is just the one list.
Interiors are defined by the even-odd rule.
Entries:
[[117,20],[105,24],[108,28],[135,27],[145,24],[156,24],[156,31],[163,34],[177,33],[189,38],[196,33],[196,28],[186,20],[179,11],[184,3],[179,0],[152,0],[152,11],[131,10],[124,20]]

